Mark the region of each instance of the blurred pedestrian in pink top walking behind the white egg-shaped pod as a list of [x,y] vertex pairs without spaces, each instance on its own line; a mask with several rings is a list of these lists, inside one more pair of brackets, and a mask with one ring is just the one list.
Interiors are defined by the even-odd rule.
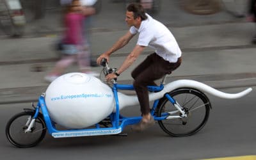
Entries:
[[52,82],[74,62],[77,62],[81,72],[98,76],[90,68],[90,54],[84,47],[83,22],[86,16],[95,13],[94,8],[82,7],[79,0],[73,0],[65,14],[65,35],[63,38],[63,57],[56,63],[53,70],[45,76],[45,80]]

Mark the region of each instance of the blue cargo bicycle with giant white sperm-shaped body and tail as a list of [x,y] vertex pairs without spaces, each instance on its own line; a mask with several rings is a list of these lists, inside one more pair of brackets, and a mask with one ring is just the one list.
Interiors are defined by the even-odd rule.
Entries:
[[[116,71],[116,68],[108,66],[106,60],[102,61],[102,67],[104,76]],[[34,109],[25,108],[23,112],[10,118],[6,124],[6,137],[12,145],[21,148],[34,147],[44,139],[46,131],[54,138],[118,135],[122,133],[127,125],[134,125],[140,122],[141,116],[125,117],[120,114],[121,109],[139,104],[136,95],[125,95],[118,92],[118,90],[134,90],[132,84],[118,84],[117,79],[113,79],[110,87],[96,77],[82,73],[70,73],[58,77],[50,84],[49,88],[51,89],[55,84],[64,81],[63,79],[65,81],[73,79],[79,88],[83,87],[81,86],[83,83],[88,83],[86,87],[92,86],[96,91],[98,88],[105,88],[108,92],[105,93],[102,90],[95,94],[89,94],[92,92],[89,91],[87,92],[88,94],[84,93],[84,95],[74,93],[74,95],[58,95],[58,97],[54,95],[55,97],[52,97],[52,93],[48,92],[49,90],[47,89],[38,98],[37,106],[32,104]],[[164,132],[170,136],[177,137],[191,136],[200,131],[206,124],[212,107],[204,92],[225,99],[237,99],[252,91],[252,88],[248,88],[239,93],[224,93],[198,81],[183,79],[168,84],[165,84],[165,81],[166,76],[163,77],[159,86],[148,86],[149,99],[154,101],[150,114]],[[65,90],[65,88],[68,88],[66,84],[69,83],[63,83],[60,87]],[[98,84],[99,87],[94,84]],[[70,86],[71,90],[76,90],[76,85],[72,84]],[[54,88],[54,90],[59,90],[59,88]],[[77,105],[74,105],[74,103],[84,99],[88,102],[88,106],[90,106],[89,102],[92,102],[93,106],[85,108],[86,112],[79,117],[78,114],[83,111],[82,109],[77,111]],[[57,102],[67,104],[68,111],[65,112],[65,108],[58,106]],[[95,105],[95,102],[98,105]],[[111,102],[110,107],[108,102]],[[52,107],[51,103],[56,104],[56,106],[53,105]],[[70,108],[72,104],[73,106]],[[58,107],[61,107],[61,111]],[[91,109],[94,108],[99,108],[99,111],[97,113],[92,112]],[[56,109],[56,111],[52,109]],[[104,111],[102,112],[102,110]],[[66,113],[68,115],[65,115]],[[101,116],[102,114],[104,115]],[[61,119],[61,116],[63,119]],[[95,116],[100,116],[100,118],[95,120]],[[83,118],[88,119],[86,121]],[[71,129],[58,130],[56,129],[56,124],[58,123],[63,123],[61,125],[66,125]]]

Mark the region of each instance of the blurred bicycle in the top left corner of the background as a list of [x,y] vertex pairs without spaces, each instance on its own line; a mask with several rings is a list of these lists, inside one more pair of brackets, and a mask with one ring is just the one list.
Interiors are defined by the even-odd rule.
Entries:
[[19,0],[0,1],[0,28],[6,35],[22,36],[26,18]]

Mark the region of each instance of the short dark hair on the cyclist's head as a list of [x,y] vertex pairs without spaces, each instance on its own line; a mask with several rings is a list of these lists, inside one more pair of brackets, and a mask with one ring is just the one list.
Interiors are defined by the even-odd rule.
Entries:
[[139,4],[139,3],[129,4],[129,6],[127,6],[126,10],[128,12],[133,12],[134,19],[136,19],[137,17],[141,17],[141,20],[145,20],[148,18],[143,6],[141,6],[141,4]]

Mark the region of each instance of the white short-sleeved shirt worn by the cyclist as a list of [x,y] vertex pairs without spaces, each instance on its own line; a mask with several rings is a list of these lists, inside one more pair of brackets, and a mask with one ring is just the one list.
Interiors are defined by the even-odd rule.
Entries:
[[181,51],[174,36],[161,22],[153,19],[147,13],[146,15],[148,18],[141,21],[139,29],[134,26],[130,28],[132,35],[140,34],[137,45],[151,47],[164,60],[177,62]]

